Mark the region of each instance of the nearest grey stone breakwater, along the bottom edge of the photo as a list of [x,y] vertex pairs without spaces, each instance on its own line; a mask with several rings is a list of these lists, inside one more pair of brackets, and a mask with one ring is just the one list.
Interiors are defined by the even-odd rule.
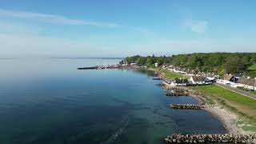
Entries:
[[172,134],[167,143],[252,143],[256,134]]

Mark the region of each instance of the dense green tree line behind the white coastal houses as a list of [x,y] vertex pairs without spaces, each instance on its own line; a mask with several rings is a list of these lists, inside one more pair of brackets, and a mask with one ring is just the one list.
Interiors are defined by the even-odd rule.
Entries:
[[187,70],[216,72],[218,74],[248,73],[248,67],[256,63],[256,53],[194,53],[171,56],[142,57],[135,55],[122,60],[122,63],[136,62],[138,66],[173,65]]

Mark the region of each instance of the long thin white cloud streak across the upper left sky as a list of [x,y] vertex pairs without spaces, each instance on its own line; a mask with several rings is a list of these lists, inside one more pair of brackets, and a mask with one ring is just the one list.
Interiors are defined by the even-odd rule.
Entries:
[[87,26],[100,26],[100,27],[121,27],[117,23],[110,22],[94,22],[84,19],[72,19],[66,18],[61,15],[54,14],[41,14],[31,13],[13,10],[2,10],[0,9],[0,16],[8,18],[19,18],[37,22],[49,22],[54,24],[66,24],[66,25],[87,25]]

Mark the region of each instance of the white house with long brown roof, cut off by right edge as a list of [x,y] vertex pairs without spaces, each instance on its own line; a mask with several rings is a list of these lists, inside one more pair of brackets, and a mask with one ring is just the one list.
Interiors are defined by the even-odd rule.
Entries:
[[238,83],[236,83],[236,86],[241,86],[249,90],[256,90],[256,78],[246,78],[241,77],[238,79]]

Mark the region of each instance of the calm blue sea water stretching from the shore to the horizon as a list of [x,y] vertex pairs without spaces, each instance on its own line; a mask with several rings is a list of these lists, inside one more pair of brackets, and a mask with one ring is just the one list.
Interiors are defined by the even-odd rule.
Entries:
[[0,143],[162,143],[168,134],[224,133],[205,110],[171,110],[150,72],[77,70],[118,59],[1,59]]

